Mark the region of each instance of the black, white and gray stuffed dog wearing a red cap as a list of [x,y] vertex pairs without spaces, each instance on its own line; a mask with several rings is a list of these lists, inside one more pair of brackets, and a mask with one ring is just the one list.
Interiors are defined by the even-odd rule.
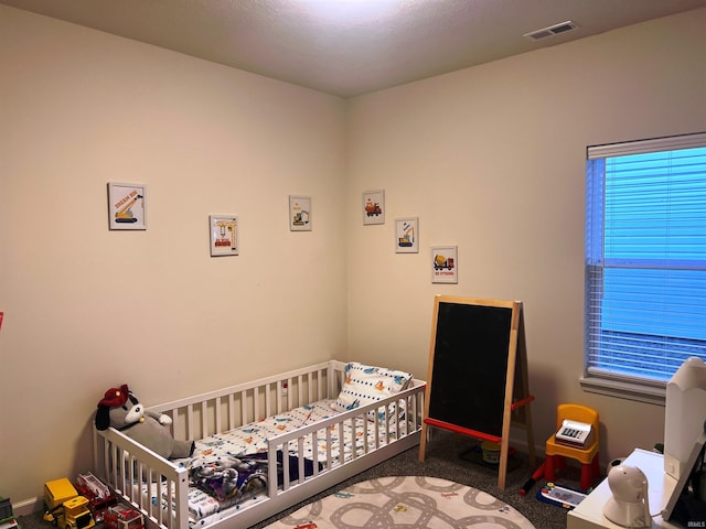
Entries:
[[167,414],[146,410],[126,384],[107,390],[96,411],[97,430],[113,427],[162,457],[189,457],[194,442],[176,441],[167,428],[171,422]]

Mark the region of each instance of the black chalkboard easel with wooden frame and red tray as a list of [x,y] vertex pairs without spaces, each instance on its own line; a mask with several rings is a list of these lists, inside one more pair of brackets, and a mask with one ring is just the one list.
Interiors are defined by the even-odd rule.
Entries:
[[435,296],[419,461],[429,427],[499,443],[504,489],[511,423],[525,428],[535,464],[532,400],[522,302]]

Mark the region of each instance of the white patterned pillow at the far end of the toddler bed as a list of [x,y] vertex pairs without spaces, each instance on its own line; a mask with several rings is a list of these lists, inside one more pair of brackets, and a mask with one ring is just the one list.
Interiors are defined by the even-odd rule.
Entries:
[[[347,411],[378,402],[406,389],[410,380],[409,373],[351,361],[345,365],[343,388],[332,407],[336,411]],[[385,418],[384,412],[379,414],[379,419]],[[368,415],[375,419],[374,412]]]

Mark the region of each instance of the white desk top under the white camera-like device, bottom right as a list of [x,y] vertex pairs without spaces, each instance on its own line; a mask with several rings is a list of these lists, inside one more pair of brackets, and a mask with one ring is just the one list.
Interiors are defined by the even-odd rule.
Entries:
[[[670,496],[676,487],[676,479],[664,473],[664,457],[656,452],[635,449],[625,457],[625,465],[640,468],[648,478],[648,494],[650,496],[650,512],[660,514],[664,509]],[[603,516],[603,506],[612,493],[608,479],[603,479],[578,507],[569,510],[566,518],[567,529],[624,529]],[[681,529],[682,526],[664,521],[662,516],[652,518],[653,528]]]

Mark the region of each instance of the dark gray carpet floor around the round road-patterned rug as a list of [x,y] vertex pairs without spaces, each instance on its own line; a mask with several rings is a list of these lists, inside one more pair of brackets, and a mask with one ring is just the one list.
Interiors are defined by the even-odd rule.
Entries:
[[[544,482],[537,483],[526,496],[518,494],[520,488],[530,478],[535,467],[541,463],[537,462],[535,467],[531,467],[527,456],[516,454],[512,458],[512,463],[516,465],[511,469],[505,479],[505,489],[498,488],[498,471],[484,466],[483,464],[468,461],[461,457],[469,451],[473,452],[477,442],[450,432],[434,430],[434,436],[427,443],[427,453],[425,462],[419,462],[419,449],[415,447],[392,457],[379,465],[365,471],[345,482],[340,483],[333,488],[310,498],[308,501],[296,505],[277,516],[261,521],[249,529],[263,529],[269,523],[293,512],[303,505],[313,499],[328,496],[336,490],[345,488],[354,483],[364,482],[384,476],[431,476],[440,477],[451,482],[469,485],[483,490],[503,501],[510,504],[525,516],[536,529],[565,529],[567,510],[545,504],[536,499],[536,493]],[[578,485],[578,468],[569,466],[563,474],[557,476],[557,483],[576,487]],[[42,512],[18,518],[22,529],[51,529],[52,525],[42,520]]]

